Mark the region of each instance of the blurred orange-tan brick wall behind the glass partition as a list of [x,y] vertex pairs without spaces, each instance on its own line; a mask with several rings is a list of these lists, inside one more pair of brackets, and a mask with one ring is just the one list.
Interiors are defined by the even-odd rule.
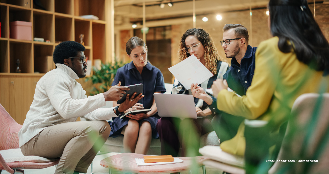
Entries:
[[[313,5],[309,6],[313,12]],[[216,20],[214,14],[196,16],[196,27],[206,30],[213,38],[219,55],[231,62],[231,59],[226,59],[223,48],[220,45],[223,35],[223,27],[227,23],[236,23],[244,25],[249,31],[249,45],[257,47],[259,43],[271,37],[270,31],[267,27],[266,9],[252,10],[252,33],[250,28],[249,11],[234,11],[221,13],[222,20]],[[202,21],[202,17],[208,17],[207,22]],[[319,24],[322,32],[327,40],[329,40],[329,4],[316,4],[316,21]],[[186,30],[193,27],[193,23],[183,23],[180,25],[171,26],[171,64],[175,65],[178,60],[179,41]],[[132,32],[121,31],[120,33],[120,58],[126,56],[125,44],[127,40],[132,37]]]

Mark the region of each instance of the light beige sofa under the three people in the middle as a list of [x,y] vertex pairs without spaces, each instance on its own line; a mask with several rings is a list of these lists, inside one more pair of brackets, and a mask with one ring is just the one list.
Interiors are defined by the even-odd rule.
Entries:
[[[166,93],[170,94],[172,89],[172,84],[165,83]],[[112,102],[107,102],[107,106],[105,107],[112,107]],[[219,145],[217,135],[215,131],[209,132],[203,135],[200,138],[200,148],[205,145]],[[160,140],[159,139],[152,139],[150,149],[148,150],[149,155],[161,155],[160,150]],[[123,135],[118,136],[116,138],[109,137],[105,142],[104,146],[100,150],[101,153],[105,152],[123,152]]]

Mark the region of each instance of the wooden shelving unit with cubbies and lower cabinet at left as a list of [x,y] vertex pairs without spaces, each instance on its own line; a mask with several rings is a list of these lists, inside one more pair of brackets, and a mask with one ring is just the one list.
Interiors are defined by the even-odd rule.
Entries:
[[[33,101],[35,86],[44,74],[40,66],[47,64],[48,56],[60,42],[80,42],[84,34],[85,55],[88,60],[111,61],[111,29],[113,0],[39,0],[43,8],[33,0],[0,0],[0,82],[1,104],[18,123],[22,124]],[[95,15],[99,20],[84,19],[81,15]],[[110,16],[110,17],[108,17]],[[32,23],[32,40],[13,39],[10,22]],[[112,21],[113,22],[113,21]],[[33,41],[34,37],[48,42]],[[106,39],[108,38],[108,39]],[[44,57],[44,59],[42,59]],[[15,73],[16,60],[20,59],[21,73]],[[92,63],[88,64],[89,71]],[[92,72],[91,72],[92,75]]]

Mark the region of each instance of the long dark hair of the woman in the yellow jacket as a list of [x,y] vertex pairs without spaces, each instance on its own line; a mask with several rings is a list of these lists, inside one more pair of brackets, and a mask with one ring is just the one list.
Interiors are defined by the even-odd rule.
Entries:
[[294,49],[299,61],[316,71],[325,71],[325,75],[328,75],[329,44],[307,0],[270,0],[268,8],[271,33],[279,37],[280,51],[289,53]]

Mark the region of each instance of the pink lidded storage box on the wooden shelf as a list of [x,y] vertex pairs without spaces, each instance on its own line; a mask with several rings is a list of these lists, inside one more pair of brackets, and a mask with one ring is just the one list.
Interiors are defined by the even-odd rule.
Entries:
[[25,21],[10,22],[10,38],[32,40],[32,23]]

